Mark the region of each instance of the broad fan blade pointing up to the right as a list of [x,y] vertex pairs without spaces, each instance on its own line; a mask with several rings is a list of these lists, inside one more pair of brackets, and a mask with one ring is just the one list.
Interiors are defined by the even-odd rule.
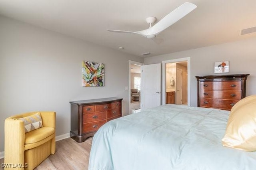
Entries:
[[188,13],[190,13],[192,10],[194,10],[197,6],[195,4],[192,4],[190,2],[185,2],[172,12],[170,12],[168,15],[166,15],[162,20],[160,20],[158,23],[156,23],[151,28],[147,29],[148,35],[157,35],[184,16],[186,16]]

